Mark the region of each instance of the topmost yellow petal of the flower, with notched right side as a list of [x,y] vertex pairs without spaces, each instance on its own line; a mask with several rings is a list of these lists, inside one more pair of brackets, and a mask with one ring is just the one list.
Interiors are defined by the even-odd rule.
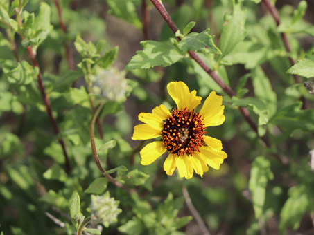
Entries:
[[185,109],[185,107],[189,110],[195,109],[202,100],[202,97],[196,96],[196,91],[190,93],[189,87],[184,82],[170,82],[167,90],[177,104],[177,109]]

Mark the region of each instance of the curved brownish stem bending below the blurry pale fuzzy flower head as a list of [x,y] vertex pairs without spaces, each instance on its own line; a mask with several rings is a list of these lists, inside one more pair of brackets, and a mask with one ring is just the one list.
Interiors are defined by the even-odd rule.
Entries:
[[101,173],[103,174],[103,176],[105,176],[105,178],[107,178],[110,182],[112,182],[114,185],[116,185],[116,187],[123,189],[124,191],[126,191],[129,194],[132,194],[135,192],[133,189],[126,188],[121,182],[119,182],[118,180],[116,180],[115,178],[110,176],[110,174],[108,174],[105,171],[105,169],[103,169],[103,167],[101,166],[101,161],[99,160],[99,157],[98,157],[96,144],[95,144],[95,128],[94,128],[94,126],[95,126],[96,118],[97,118],[99,112],[101,111],[101,109],[103,108],[104,104],[105,104],[104,102],[101,103],[98,106],[98,108],[94,111],[93,116],[91,117],[91,122],[89,124],[89,137],[91,138],[91,151],[93,152],[93,157],[94,157],[94,160],[96,162],[96,165],[97,165],[99,171],[101,171]]

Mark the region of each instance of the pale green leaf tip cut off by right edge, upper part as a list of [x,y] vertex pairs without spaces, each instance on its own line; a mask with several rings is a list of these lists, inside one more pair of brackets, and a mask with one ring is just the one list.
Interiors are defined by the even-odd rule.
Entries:
[[302,77],[314,77],[314,57],[300,59],[297,64],[288,69],[287,73],[299,75]]

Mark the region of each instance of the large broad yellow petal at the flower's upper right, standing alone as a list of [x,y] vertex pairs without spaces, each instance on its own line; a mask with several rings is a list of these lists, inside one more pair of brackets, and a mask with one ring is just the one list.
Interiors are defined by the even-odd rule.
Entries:
[[225,122],[225,115],[223,115],[225,106],[221,104],[223,104],[223,97],[216,95],[215,91],[211,91],[200,110],[205,127],[218,126]]

